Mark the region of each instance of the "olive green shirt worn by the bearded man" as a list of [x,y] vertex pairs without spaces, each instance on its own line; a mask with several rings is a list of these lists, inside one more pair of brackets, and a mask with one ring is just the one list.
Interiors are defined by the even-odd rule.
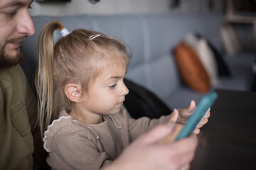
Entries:
[[19,64],[0,69],[0,169],[32,169],[36,104]]

